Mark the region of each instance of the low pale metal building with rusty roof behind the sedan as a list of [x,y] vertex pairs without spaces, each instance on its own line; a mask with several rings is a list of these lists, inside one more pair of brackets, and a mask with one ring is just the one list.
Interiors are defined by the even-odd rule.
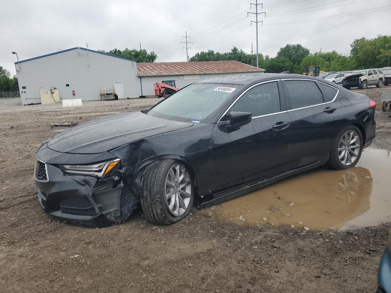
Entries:
[[174,80],[176,88],[183,88],[201,79],[239,73],[265,72],[238,61],[137,63],[140,96],[154,95],[154,83]]

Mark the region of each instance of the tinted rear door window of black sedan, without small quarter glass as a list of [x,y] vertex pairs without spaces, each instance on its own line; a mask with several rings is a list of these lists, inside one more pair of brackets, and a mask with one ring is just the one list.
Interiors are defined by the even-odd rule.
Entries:
[[285,80],[282,84],[285,96],[289,100],[288,110],[323,103],[322,93],[313,81]]

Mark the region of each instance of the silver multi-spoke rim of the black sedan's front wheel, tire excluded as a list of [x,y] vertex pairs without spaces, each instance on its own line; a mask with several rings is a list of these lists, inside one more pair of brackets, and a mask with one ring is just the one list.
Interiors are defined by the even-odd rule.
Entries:
[[182,164],[174,164],[167,173],[165,199],[172,215],[178,217],[185,213],[192,196],[190,174]]

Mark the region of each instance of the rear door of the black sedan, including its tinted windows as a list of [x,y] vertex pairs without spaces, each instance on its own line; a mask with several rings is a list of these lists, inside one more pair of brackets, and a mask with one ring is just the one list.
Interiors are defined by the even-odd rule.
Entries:
[[[334,141],[338,89],[314,80],[282,80],[291,120],[289,169],[316,163],[330,153]],[[322,89],[322,91],[321,91]]]

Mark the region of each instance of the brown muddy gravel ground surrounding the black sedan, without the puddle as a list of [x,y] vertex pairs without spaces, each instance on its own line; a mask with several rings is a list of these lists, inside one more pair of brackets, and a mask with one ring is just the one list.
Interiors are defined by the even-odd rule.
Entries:
[[[371,147],[391,150],[391,112],[381,111],[380,91],[365,91],[377,102]],[[81,123],[158,101],[76,108],[0,101],[0,292],[375,291],[390,223],[344,231],[237,226],[213,210],[193,209],[181,222],[157,227],[139,209],[122,225],[88,229],[43,213],[34,153],[59,131],[50,122]]]

